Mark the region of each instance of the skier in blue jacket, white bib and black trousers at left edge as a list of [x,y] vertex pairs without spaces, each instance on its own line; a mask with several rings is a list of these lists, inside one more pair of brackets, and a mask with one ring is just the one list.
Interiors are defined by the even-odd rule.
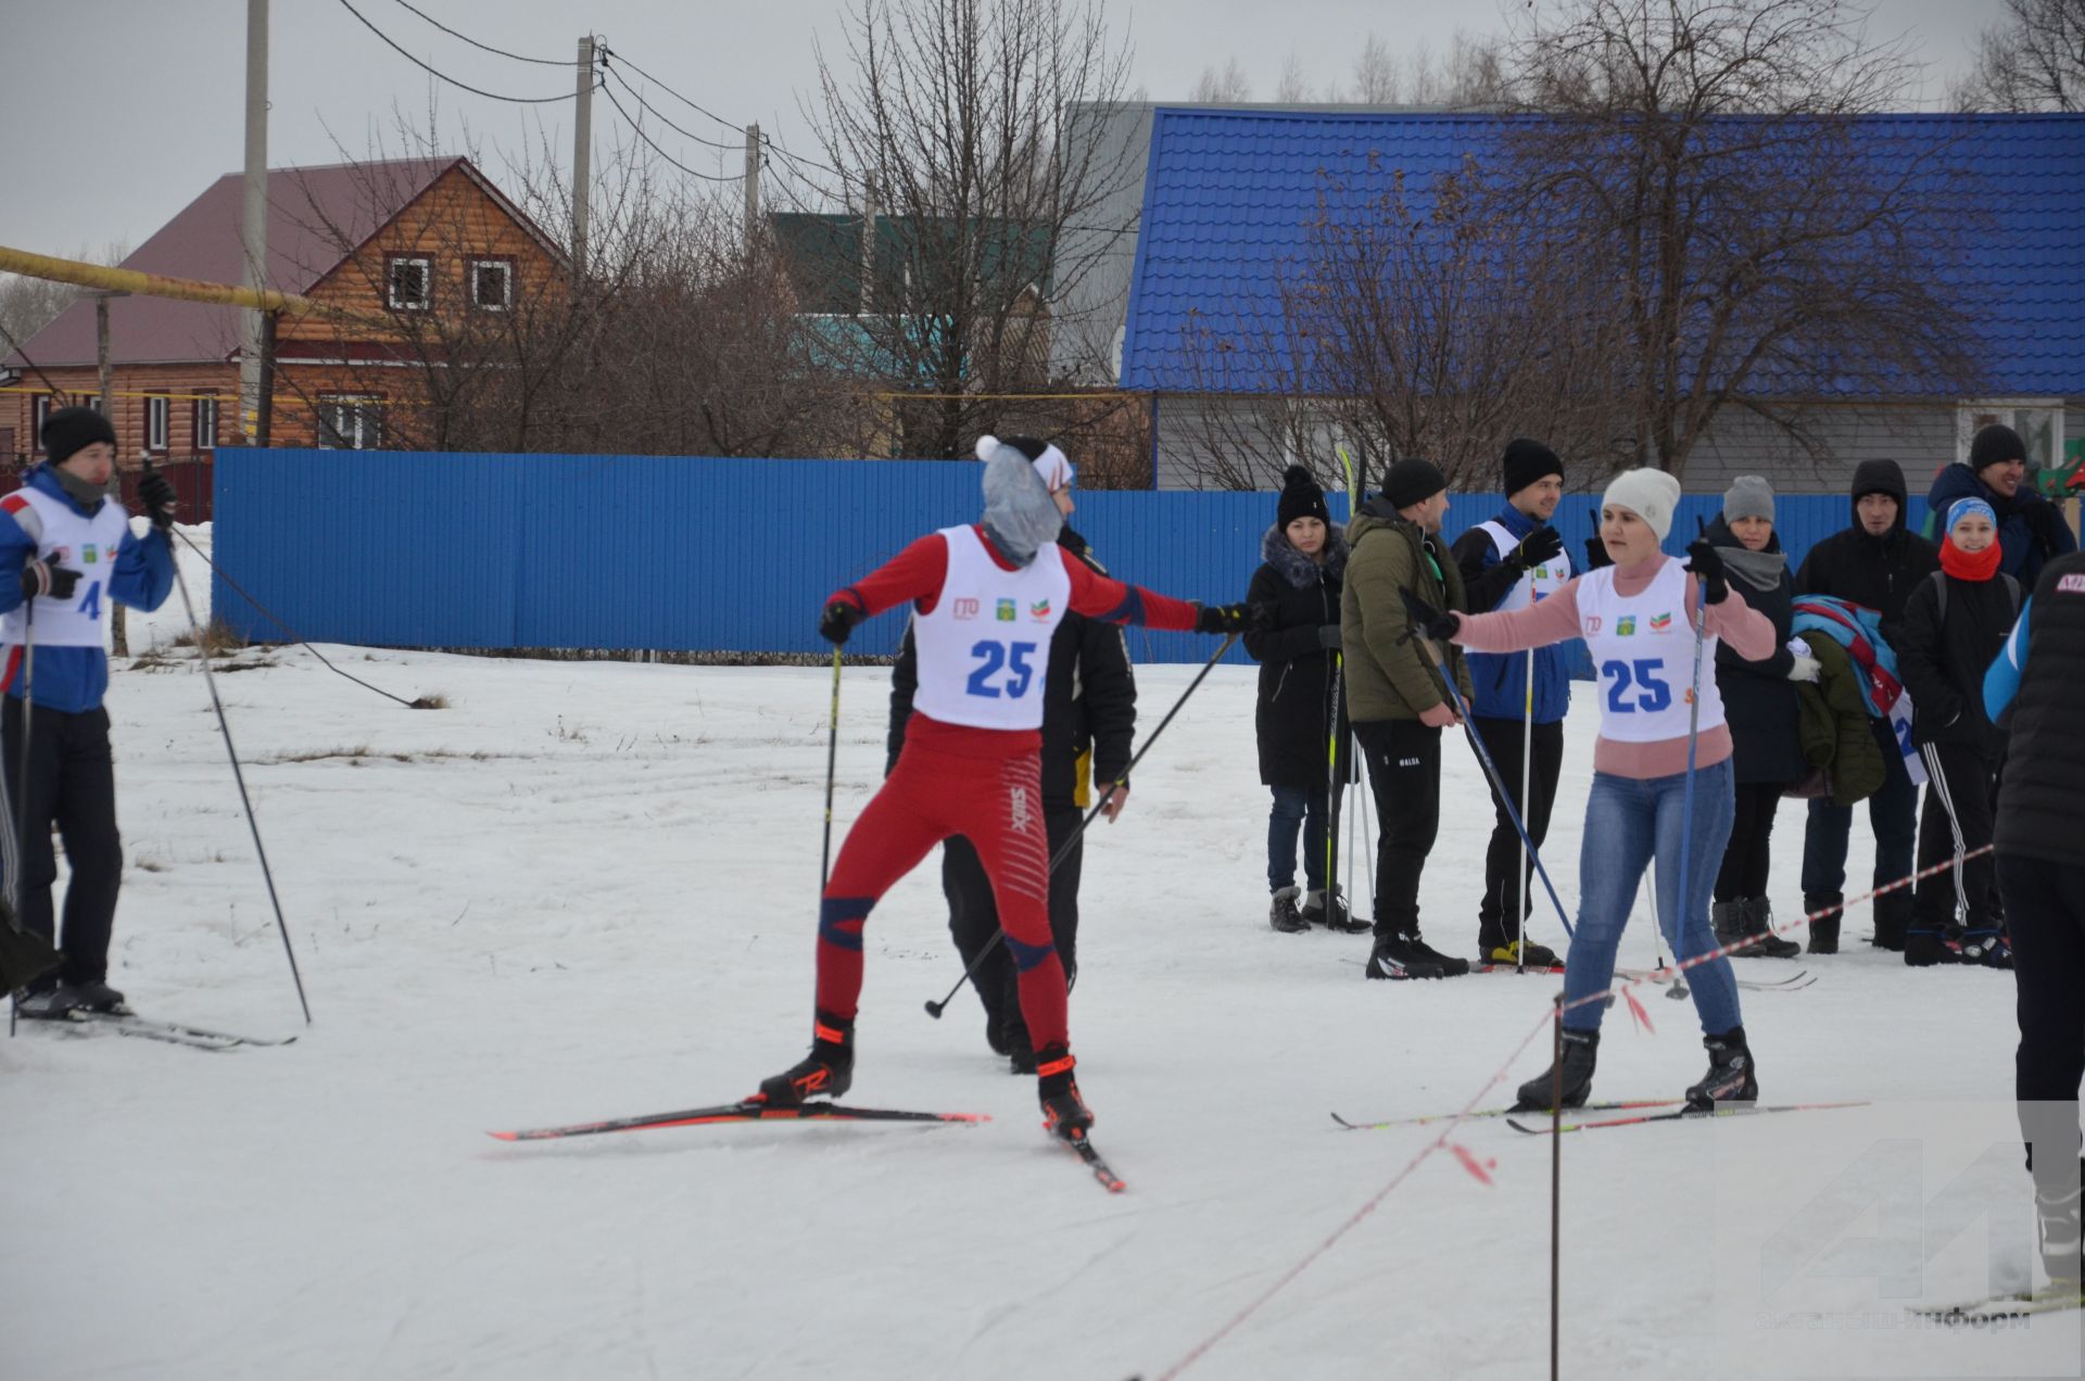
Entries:
[[[0,499],[0,866],[21,924],[58,939],[50,885],[58,859],[56,824],[73,880],[65,889],[63,962],[31,980],[21,1014],[67,1018],[77,1010],[127,1012],[108,987],[108,935],[123,882],[115,766],[108,753],[108,601],[158,609],[173,590],[175,494],[165,476],[138,486],[152,519],[146,536],[104,492],[117,463],[117,434],[85,407],[44,421],[46,461]],[[27,784],[27,791],[23,791]]]

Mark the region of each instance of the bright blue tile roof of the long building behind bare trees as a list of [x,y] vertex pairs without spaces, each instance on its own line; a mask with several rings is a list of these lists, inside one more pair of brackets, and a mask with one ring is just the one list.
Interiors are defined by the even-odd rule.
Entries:
[[[1159,108],[1122,386],[1280,388],[1251,353],[1220,355],[1207,342],[1278,334],[1280,267],[1307,250],[1320,175],[1355,192],[1387,192],[1401,175],[1407,200],[1424,207],[1439,173],[1497,148],[1505,119]],[[1885,163],[1954,140],[1949,156],[1979,169],[1962,194],[1991,232],[1949,277],[1981,305],[1993,392],[2085,394],[2085,115],[1883,115],[1860,127]],[[1203,353],[1203,369],[1191,367],[1191,350]],[[1829,371],[1824,359],[1818,367]]]

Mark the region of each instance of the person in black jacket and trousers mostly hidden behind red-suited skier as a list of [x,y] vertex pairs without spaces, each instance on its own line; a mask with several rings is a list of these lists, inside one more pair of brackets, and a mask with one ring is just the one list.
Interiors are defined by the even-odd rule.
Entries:
[[[1036,474],[1049,484],[1057,507],[1072,515],[1072,465],[1063,453],[1026,436],[1003,436],[1001,446],[1017,446],[1036,461]],[[1045,474],[1045,467],[1049,471]],[[1093,570],[1107,574],[1086,549],[1086,538],[1070,524],[1057,544]],[[911,628],[899,645],[890,676],[890,757],[888,774],[905,747],[905,722],[911,720],[913,690],[919,684],[919,661]],[[1093,791],[1113,795],[1103,805],[1109,824],[1130,799],[1130,743],[1136,736],[1136,674],[1130,670],[1130,649],[1118,624],[1103,624],[1078,613],[1065,613],[1049,645],[1049,672],[1042,682],[1042,826],[1049,834],[1049,855],[1055,859],[1078,822],[1093,805]],[[1065,987],[1078,978],[1078,878],[1086,843],[1078,839],[1049,876],[1049,928],[1063,960]],[[940,851],[940,889],[949,899],[949,935],[965,966],[976,966],[972,985],[984,1003],[984,1037],[990,1047],[1009,1056],[1015,1074],[1034,1072],[1034,1049],[1015,993],[1013,960],[1005,945],[995,945],[999,907],[992,885],[984,876],[978,851],[961,834],[953,834]],[[982,962],[978,955],[984,955]]]

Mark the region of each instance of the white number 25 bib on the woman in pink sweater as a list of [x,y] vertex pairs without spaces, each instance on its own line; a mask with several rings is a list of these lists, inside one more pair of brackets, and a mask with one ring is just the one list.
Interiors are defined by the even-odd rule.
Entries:
[[[1687,695],[1693,686],[1693,624],[1687,572],[1666,561],[1639,595],[1618,595],[1614,567],[1578,578],[1578,632],[1593,653],[1599,682],[1599,734],[1616,743],[1658,743],[1687,736]],[[1722,724],[1716,693],[1716,636],[1701,645],[1699,728]]]

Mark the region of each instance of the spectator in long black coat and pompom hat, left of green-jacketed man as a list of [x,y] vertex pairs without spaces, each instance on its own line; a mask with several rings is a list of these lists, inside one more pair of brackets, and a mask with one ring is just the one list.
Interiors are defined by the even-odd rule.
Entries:
[[[1259,538],[1261,565],[1245,603],[1264,617],[1245,634],[1259,663],[1253,730],[1259,780],[1274,791],[1268,814],[1268,924],[1276,930],[1368,930],[1339,895],[1339,795],[1349,766],[1347,709],[1339,699],[1339,590],[1347,534],[1332,526],[1324,490],[1301,465],[1282,476],[1274,526]],[[1268,622],[1272,620],[1272,622]],[[1339,734],[1339,764],[1330,761]],[[1297,889],[1297,830],[1303,880]],[[1301,897],[1301,899],[1299,899]]]

